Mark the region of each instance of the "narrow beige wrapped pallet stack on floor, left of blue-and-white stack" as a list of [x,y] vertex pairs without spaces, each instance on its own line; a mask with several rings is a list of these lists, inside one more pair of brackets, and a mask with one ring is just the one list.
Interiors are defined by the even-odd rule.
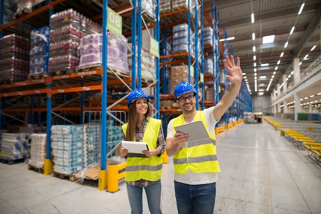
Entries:
[[29,165],[44,168],[47,156],[47,134],[31,134]]

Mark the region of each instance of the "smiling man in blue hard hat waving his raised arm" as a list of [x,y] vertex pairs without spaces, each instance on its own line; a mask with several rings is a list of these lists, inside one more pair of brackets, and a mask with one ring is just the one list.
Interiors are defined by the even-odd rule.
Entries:
[[[220,172],[216,158],[215,124],[231,106],[242,83],[242,70],[235,66],[234,57],[226,56],[224,66],[232,82],[228,91],[215,106],[197,111],[196,90],[188,82],[178,83],[174,90],[176,103],[183,114],[170,120],[167,126],[166,152],[173,157],[176,205],[179,214],[213,214],[217,172]],[[173,127],[202,121],[210,139],[187,143],[189,133],[175,132]],[[210,140],[210,142],[209,142]]]

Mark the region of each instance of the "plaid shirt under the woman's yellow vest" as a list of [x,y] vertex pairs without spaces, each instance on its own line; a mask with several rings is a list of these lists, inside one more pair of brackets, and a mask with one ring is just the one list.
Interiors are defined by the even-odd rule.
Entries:
[[[149,117],[145,118],[142,127],[139,127],[136,124],[136,142],[142,142],[143,136],[144,136],[144,133],[145,133],[145,130],[146,130],[146,126],[147,126],[147,121],[149,121]],[[123,135],[124,135],[124,133],[123,133]],[[124,139],[125,139],[125,135],[124,135]],[[165,138],[164,138],[164,132],[163,132],[162,125],[160,125],[160,127],[159,127],[159,133],[158,133],[158,139],[157,139],[157,148],[160,149],[160,154],[157,155],[157,157],[159,157],[165,151]],[[145,179],[141,179],[141,180],[138,180],[138,181],[127,181],[126,183],[131,185],[131,186],[144,187],[144,186],[152,185],[152,184],[156,183],[156,181],[147,181]]]

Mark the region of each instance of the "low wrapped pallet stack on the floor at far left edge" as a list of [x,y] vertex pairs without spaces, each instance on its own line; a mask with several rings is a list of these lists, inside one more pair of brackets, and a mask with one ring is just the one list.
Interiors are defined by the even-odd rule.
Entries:
[[28,133],[3,133],[1,140],[1,157],[18,160],[30,156]]

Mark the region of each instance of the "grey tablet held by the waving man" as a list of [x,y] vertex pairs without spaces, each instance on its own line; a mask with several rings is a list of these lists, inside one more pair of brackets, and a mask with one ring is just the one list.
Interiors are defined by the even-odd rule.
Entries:
[[174,127],[176,132],[181,132],[189,136],[189,140],[187,142],[193,142],[196,140],[207,139],[210,136],[208,135],[205,126],[202,121],[196,121],[187,123],[184,125],[179,125]]

